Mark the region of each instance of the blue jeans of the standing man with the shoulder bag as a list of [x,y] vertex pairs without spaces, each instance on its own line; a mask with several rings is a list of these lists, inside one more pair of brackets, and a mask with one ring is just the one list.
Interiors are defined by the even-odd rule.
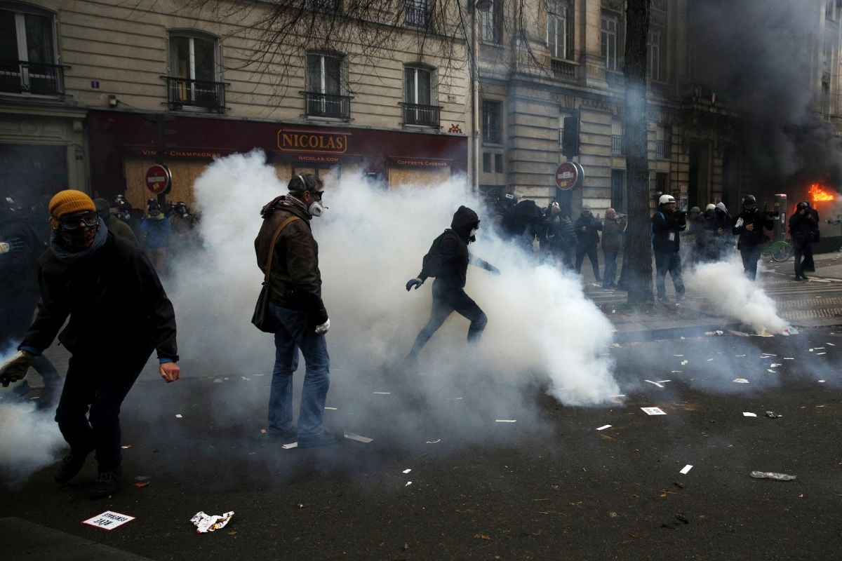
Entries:
[[304,355],[306,372],[298,411],[298,436],[322,434],[324,402],[330,387],[330,357],[324,335],[318,335],[309,315],[301,310],[287,310],[269,303],[269,311],[278,320],[274,334],[274,368],[269,392],[269,434],[292,431],[292,373],[297,366],[296,347]]

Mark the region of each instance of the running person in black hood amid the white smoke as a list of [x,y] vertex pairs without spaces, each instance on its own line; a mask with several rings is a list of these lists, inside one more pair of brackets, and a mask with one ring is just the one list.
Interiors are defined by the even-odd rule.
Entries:
[[418,277],[407,281],[407,291],[411,288],[418,290],[429,277],[434,277],[433,309],[429,315],[427,325],[421,329],[415,338],[415,344],[409,352],[408,361],[414,361],[418,352],[424,348],[429,338],[439,330],[448,316],[456,312],[471,321],[468,327],[468,341],[477,341],[488,318],[470,296],[465,294],[465,282],[468,263],[482,267],[491,273],[500,273],[497,267],[472,256],[468,251],[468,244],[476,241],[475,235],[479,228],[479,217],[472,209],[462,205],[453,214],[450,228],[437,237],[429,252],[424,256],[421,272]]

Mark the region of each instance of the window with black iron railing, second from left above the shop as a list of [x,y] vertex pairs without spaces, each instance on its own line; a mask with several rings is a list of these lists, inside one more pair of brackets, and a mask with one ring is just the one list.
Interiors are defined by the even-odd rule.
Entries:
[[225,84],[218,81],[219,44],[209,35],[169,34],[170,108],[225,108]]

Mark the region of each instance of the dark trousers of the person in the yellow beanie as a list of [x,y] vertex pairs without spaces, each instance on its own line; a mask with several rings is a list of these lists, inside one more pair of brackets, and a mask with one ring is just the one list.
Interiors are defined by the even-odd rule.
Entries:
[[70,358],[56,422],[72,453],[96,451],[101,472],[120,469],[120,405],[153,348]]

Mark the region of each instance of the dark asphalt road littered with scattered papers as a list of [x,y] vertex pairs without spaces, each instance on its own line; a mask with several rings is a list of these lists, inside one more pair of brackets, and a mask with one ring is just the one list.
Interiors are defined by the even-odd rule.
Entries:
[[[45,468],[3,486],[0,518],[159,561],[839,559],[842,330],[608,351],[626,394],[608,407],[562,406],[481,374],[430,393],[401,379],[352,386],[339,371],[327,422],[374,441],[324,450],[261,435],[268,378],[194,364],[201,374],[173,391],[145,377],[124,405],[119,494],[87,499],[93,462],[66,487]],[[111,532],[80,523],[106,510],[136,520]],[[197,535],[197,511],[235,515]],[[8,553],[4,536],[0,558],[64,558]]]

